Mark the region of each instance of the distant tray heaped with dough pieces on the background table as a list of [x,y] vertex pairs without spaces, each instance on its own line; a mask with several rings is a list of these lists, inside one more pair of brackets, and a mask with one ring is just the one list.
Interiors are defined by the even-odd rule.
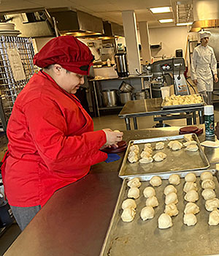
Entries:
[[202,94],[191,95],[172,95],[165,97],[161,103],[163,109],[168,108],[192,108],[204,105],[204,98]]

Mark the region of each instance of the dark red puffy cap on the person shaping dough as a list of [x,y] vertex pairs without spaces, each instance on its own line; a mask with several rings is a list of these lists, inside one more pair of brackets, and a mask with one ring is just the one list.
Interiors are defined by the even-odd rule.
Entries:
[[38,67],[51,64],[59,64],[71,72],[88,75],[93,64],[93,55],[88,46],[76,37],[55,37],[34,56],[34,65]]

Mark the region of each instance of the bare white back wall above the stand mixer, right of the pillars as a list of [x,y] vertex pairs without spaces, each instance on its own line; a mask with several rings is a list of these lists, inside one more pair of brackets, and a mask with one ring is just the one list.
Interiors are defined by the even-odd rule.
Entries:
[[185,57],[185,48],[187,43],[188,29],[187,26],[177,26],[168,28],[149,29],[150,44],[158,45],[162,43],[161,50],[152,49],[151,54],[154,60],[175,56],[175,50],[183,49],[183,57]]

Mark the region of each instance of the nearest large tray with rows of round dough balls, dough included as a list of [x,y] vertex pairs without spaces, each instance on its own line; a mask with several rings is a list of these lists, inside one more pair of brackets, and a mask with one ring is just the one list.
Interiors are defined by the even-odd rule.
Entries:
[[101,256],[219,255],[218,170],[125,178]]

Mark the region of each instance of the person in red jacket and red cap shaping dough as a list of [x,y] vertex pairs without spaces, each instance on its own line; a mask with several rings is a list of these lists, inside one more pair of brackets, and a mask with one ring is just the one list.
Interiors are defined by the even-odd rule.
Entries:
[[93,132],[93,121],[74,96],[93,61],[75,37],[56,37],[34,56],[41,67],[15,101],[7,126],[8,152],[1,167],[4,189],[23,230],[53,193],[107,159],[101,148],[122,132]]

